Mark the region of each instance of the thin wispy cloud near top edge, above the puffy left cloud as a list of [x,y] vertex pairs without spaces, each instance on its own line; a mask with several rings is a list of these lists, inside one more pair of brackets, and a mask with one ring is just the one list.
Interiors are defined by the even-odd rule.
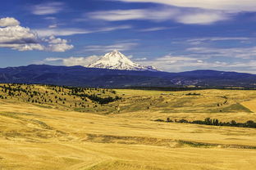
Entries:
[[62,2],[46,2],[31,7],[31,11],[34,15],[49,15],[56,14],[63,11],[65,8]]

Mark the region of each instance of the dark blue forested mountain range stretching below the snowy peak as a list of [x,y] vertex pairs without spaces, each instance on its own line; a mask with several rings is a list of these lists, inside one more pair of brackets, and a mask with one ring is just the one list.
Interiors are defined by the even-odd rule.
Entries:
[[0,69],[0,83],[41,83],[75,87],[255,87],[255,74],[214,70],[167,73],[83,66],[28,65]]

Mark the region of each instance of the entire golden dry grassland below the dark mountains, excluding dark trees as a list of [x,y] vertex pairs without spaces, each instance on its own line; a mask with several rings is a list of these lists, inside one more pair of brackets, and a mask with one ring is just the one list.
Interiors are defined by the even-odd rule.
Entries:
[[256,169],[256,128],[153,121],[256,121],[256,91],[91,90],[121,97],[98,104],[66,88],[28,89],[41,93],[29,100],[0,88],[1,170]]

